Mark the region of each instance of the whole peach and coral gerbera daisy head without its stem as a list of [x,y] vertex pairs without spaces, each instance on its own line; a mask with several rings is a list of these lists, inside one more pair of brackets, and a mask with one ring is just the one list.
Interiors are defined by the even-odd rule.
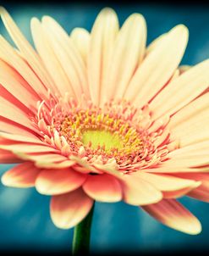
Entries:
[[94,201],[124,200],[173,229],[201,231],[176,198],[209,202],[209,60],[179,63],[188,30],[177,25],[146,47],[146,21],[119,29],[105,8],[91,32],[70,36],[45,16],[31,19],[36,50],[1,16],[0,162],[19,163],[6,186],[51,195],[52,221],[71,228]]

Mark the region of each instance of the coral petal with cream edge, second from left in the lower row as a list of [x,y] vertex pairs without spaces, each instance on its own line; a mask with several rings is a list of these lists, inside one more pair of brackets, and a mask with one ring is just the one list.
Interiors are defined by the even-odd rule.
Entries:
[[36,178],[36,190],[45,195],[58,195],[80,187],[86,179],[72,169],[42,170]]

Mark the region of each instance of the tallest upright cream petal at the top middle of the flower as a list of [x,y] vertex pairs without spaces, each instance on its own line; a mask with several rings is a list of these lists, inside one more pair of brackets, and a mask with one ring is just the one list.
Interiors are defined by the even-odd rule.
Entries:
[[[103,84],[109,74],[109,61],[113,54],[113,43],[118,34],[118,17],[111,8],[102,9],[91,31],[88,53],[88,79],[91,100],[96,105],[106,100],[107,87]],[[105,93],[104,93],[105,92]]]

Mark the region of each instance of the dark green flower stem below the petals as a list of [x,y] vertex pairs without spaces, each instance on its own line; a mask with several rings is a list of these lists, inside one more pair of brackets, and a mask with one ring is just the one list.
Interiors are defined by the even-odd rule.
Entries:
[[94,204],[91,211],[84,220],[74,227],[74,238],[72,253],[74,256],[88,255],[91,238],[91,221],[93,217]]

